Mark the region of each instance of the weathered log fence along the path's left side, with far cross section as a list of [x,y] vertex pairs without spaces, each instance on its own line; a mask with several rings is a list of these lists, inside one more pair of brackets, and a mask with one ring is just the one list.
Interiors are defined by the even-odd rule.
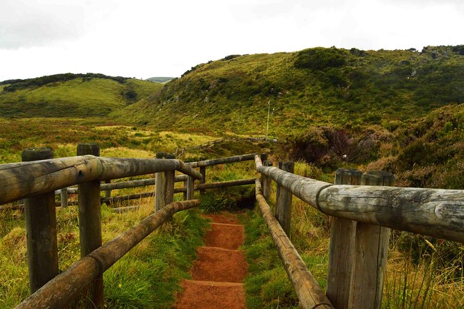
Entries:
[[[24,199],[26,244],[31,296],[17,308],[64,308],[89,288],[89,299],[95,306],[103,304],[103,272],[108,270],[132,247],[146,238],[157,227],[178,211],[198,206],[194,191],[254,184],[255,179],[205,184],[205,168],[216,164],[253,160],[255,154],[199,161],[191,164],[157,154],[158,159],[98,157],[98,145],[78,145],[78,157],[52,159],[49,149],[23,152],[22,163],[0,165],[0,204]],[[37,161],[39,160],[39,161]],[[200,168],[200,172],[194,168]],[[184,175],[175,177],[175,171]],[[141,179],[123,183],[101,184],[111,179],[149,175],[155,181]],[[195,184],[195,180],[200,184]],[[175,188],[174,182],[184,182]],[[155,185],[156,211],[128,231],[110,242],[101,243],[101,202],[128,200],[132,197],[101,198],[101,191],[135,186]],[[58,274],[58,249],[56,235],[55,191],[62,197],[75,193],[77,185],[80,260]],[[65,194],[61,194],[65,191]],[[186,200],[173,202],[173,194],[184,193]],[[142,193],[143,194],[143,193]],[[150,193],[153,195],[153,192]],[[140,197],[137,197],[140,198]],[[60,203],[61,205],[62,203]],[[66,205],[68,203],[65,203]],[[65,205],[63,205],[65,206]]]

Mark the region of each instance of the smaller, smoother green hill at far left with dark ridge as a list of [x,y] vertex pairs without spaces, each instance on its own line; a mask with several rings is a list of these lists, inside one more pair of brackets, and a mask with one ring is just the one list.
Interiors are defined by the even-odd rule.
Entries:
[[103,74],[57,74],[0,83],[0,116],[106,116],[163,85]]

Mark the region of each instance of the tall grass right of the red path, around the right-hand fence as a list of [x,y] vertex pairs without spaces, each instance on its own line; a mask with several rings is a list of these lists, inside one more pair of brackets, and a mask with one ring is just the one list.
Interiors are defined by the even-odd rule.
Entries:
[[[315,166],[297,162],[295,173],[325,182]],[[275,205],[275,182],[268,201]],[[291,241],[321,288],[327,287],[329,218],[296,197],[292,202]],[[249,308],[297,308],[298,299],[286,279],[272,240],[258,209],[246,221],[246,254],[250,275],[246,279]],[[456,242],[433,240],[393,231],[382,308],[464,308],[464,247]],[[267,293],[269,289],[273,293]]]

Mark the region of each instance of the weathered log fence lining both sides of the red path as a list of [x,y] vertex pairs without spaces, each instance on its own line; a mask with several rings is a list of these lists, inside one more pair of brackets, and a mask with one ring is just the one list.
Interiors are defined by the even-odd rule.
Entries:
[[[189,164],[162,153],[157,159],[98,157],[94,144],[79,145],[78,154],[50,159],[49,150],[32,150],[24,152],[22,163],[0,165],[0,204],[24,199],[33,294],[18,308],[62,308],[89,285],[98,306],[103,301],[103,272],[173,213],[198,206],[194,191],[201,196],[207,188],[256,185],[259,207],[302,308],[380,308],[390,228],[464,242],[464,191],[397,188],[389,173],[339,169],[335,184],[329,184],[294,175],[289,162],[273,167],[256,154]],[[31,161],[35,159],[41,161]],[[255,161],[261,179],[205,183],[207,166],[247,160]],[[175,177],[175,170],[184,175]],[[153,173],[154,180],[101,184]],[[195,184],[195,179],[200,182]],[[271,181],[277,183],[276,213],[266,202]],[[175,182],[184,186],[176,188]],[[102,245],[101,202],[132,197],[101,198],[101,191],[153,184],[157,211]],[[55,191],[74,193],[76,188],[67,188],[74,185],[78,185],[81,258],[57,276]],[[184,193],[185,200],[173,202],[175,193]],[[144,194],[153,196],[153,190],[135,198]],[[293,195],[332,216],[326,293],[289,240]]]

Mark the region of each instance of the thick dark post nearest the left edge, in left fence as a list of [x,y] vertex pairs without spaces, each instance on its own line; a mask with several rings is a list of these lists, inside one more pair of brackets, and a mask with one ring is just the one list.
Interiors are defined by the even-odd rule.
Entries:
[[[49,148],[26,149],[22,161],[52,159]],[[55,191],[24,199],[31,294],[58,275]]]

